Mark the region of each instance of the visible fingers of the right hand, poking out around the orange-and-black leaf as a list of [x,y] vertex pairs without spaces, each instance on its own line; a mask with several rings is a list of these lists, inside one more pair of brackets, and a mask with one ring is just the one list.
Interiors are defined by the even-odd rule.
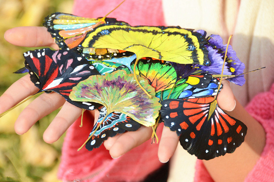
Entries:
[[[223,89],[217,97],[218,105],[227,111],[234,110],[236,102],[234,95],[230,89],[229,82],[224,80]],[[114,137],[108,138],[104,145],[109,150],[113,158],[117,158],[128,152],[134,147],[139,146],[146,140],[149,140],[152,135],[152,128],[142,126],[139,130],[134,132],[127,132],[118,134]],[[163,163],[167,162],[174,154],[179,142],[179,137],[176,132],[170,131],[168,127],[163,127],[162,137],[159,143],[158,157]]]

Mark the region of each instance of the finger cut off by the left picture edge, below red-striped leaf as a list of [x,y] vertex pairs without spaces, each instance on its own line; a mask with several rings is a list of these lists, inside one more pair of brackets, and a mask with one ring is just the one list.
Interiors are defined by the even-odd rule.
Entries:
[[30,81],[29,75],[23,76],[13,83],[0,97],[0,113],[15,106],[26,97],[37,93],[38,90],[39,89]]

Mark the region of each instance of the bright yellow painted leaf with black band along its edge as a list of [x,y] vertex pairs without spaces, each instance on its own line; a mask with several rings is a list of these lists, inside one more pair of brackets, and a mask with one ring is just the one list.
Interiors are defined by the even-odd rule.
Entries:
[[181,64],[210,65],[206,38],[180,27],[104,24],[86,35],[79,48],[109,48]]

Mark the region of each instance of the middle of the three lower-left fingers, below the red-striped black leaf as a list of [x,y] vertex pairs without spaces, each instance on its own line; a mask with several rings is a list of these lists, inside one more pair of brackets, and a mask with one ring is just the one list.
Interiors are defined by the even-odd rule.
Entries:
[[17,134],[26,133],[34,123],[58,109],[64,103],[65,99],[58,93],[41,94],[20,113],[14,124],[15,132]]

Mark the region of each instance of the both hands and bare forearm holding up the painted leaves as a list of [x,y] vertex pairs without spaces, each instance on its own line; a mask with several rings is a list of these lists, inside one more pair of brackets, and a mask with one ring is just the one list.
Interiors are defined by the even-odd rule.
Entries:
[[[50,33],[44,27],[17,27],[10,29],[5,33],[5,39],[18,46],[50,46],[58,49],[54,39],[51,38]],[[0,113],[8,110],[26,97],[35,94],[37,91],[38,89],[30,81],[29,75],[22,77],[13,83],[0,97]],[[223,89],[217,98],[217,102],[223,110],[231,111],[235,108],[235,99],[227,81],[223,81]],[[82,109],[65,102],[65,99],[57,93],[43,93],[34,99],[16,120],[14,126],[16,133],[25,133],[37,120],[60,106],[63,106],[62,109],[48,126],[43,136],[47,143],[53,143],[58,140],[81,115]],[[248,132],[245,142],[233,154],[227,154],[204,162],[215,181],[223,181],[224,179],[236,181],[239,180],[237,178],[239,176],[244,178],[255,165],[265,145],[265,133],[262,126],[239,103],[237,103],[236,109],[229,114],[243,121],[248,126]],[[109,138],[104,142],[104,145],[110,150],[111,156],[117,158],[149,140],[151,134],[151,127],[142,126],[135,132],[126,132]],[[167,127],[163,128],[158,150],[158,157],[161,162],[167,162],[170,159],[176,150],[178,141],[179,137],[175,132],[170,131]],[[216,169],[216,166],[218,166],[218,169]],[[219,174],[222,174],[222,176]]]

